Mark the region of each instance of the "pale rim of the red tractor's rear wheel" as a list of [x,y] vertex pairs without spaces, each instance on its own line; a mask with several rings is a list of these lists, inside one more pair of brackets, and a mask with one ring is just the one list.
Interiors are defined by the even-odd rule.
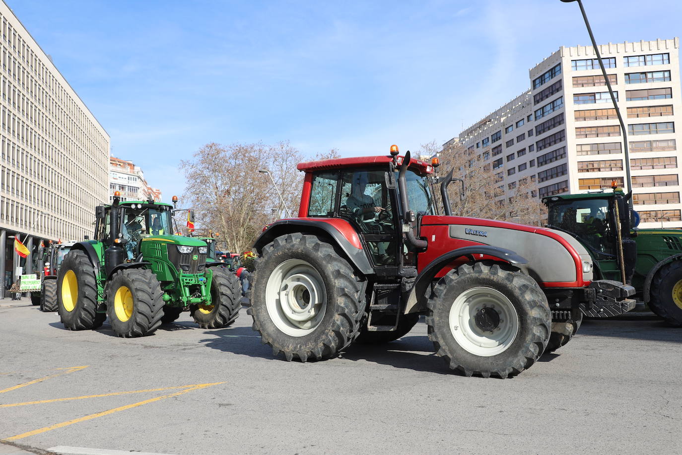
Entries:
[[310,334],[327,310],[322,276],[303,259],[288,259],[275,267],[267,279],[265,300],[272,322],[291,336]]

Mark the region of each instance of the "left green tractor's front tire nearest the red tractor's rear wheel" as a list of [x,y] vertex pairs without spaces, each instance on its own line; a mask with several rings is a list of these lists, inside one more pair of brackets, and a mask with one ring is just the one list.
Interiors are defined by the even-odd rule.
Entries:
[[191,314],[203,329],[228,327],[239,316],[241,285],[239,278],[228,269],[211,267],[211,305],[194,305]]

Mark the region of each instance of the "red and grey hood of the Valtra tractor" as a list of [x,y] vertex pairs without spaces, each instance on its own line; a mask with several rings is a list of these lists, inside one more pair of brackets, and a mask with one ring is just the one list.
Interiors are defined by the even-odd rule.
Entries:
[[441,245],[451,239],[457,244],[466,241],[506,248],[527,259],[531,275],[550,286],[582,287],[593,278],[587,249],[571,235],[554,229],[462,216],[424,216],[421,236],[430,243],[427,252],[433,248],[434,254],[439,253],[438,237],[445,237]]

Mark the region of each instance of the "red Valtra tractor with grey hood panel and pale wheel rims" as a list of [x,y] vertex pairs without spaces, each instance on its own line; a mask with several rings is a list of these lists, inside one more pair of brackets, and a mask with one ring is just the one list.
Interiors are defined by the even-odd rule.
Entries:
[[449,368],[505,378],[568,342],[582,314],[634,308],[632,287],[593,281],[590,256],[570,235],[452,216],[452,173],[436,177],[409,151],[298,169],[299,216],[258,237],[249,308],[263,342],[287,360],[396,340],[425,314]]

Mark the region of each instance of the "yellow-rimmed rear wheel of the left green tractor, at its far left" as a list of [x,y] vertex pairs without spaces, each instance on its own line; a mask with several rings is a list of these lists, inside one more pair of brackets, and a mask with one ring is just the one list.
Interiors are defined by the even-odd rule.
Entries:
[[[96,329],[104,320],[97,312],[97,280],[87,254],[66,254],[57,278],[59,319],[68,330]],[[105,317],[106,318],[106,317]]]

